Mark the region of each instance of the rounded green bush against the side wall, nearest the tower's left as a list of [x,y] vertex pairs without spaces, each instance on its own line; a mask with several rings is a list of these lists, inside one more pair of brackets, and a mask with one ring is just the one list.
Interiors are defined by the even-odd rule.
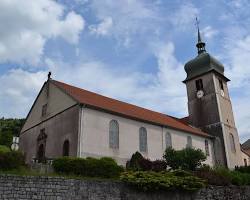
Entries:
[[163,155],[167,165],[172,169],[183,169],[194,171],[206,160],[206,155],[200,149],[185,148],[174,150],[167,148]]

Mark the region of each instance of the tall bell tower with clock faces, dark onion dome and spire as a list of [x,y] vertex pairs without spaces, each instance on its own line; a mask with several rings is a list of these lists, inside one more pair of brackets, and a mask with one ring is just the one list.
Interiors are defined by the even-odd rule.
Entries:
[[189,123],[214,136],[215,164],[234,168],[241,165],[239,136],[224,66],[206,52],[199,27],[198,55],[185,64]]

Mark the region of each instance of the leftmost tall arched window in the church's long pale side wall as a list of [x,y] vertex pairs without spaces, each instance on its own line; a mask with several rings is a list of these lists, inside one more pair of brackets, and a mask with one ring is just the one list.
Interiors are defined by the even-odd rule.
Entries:
[[119,148],[119,124],[116,120],[111,120],[109,123],[109,147]]

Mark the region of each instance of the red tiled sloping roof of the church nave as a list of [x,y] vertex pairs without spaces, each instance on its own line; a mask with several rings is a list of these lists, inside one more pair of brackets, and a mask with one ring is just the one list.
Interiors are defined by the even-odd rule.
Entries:
[[173,129],[182,130],[203,137],[212,137],[198,128],[183,123],[180,119],[175,117],[105,97],[59,81],[50,80],[50,82],[62,89],[78,103],[84,104],[86,107],[111,112],[117,115],[149,122],[156,125],[171,127]]

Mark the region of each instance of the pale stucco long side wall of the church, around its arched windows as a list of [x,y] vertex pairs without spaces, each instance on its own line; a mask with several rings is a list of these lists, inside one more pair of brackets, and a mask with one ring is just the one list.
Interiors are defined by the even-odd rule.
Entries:
[[[80,157],[109,156],[125,165],[131,155],[139,151],[139,128],[147,129],[148,151],[143,155],[151,160],[161,159],[165,150],[165,133],[172,137],[172,145],[175,149],[183,149],[187,144],[187,136],[192,137],[192,144],[205,152],[205,139],[193,134],[163,128],[140,121],[135,121],[109,113],[83,108],[80,134]],[[109,122],[114,119],[119,123],[119,149],[109,148]],[[210,156],[206,164],[213,165],[212,142],[209,141]]]

